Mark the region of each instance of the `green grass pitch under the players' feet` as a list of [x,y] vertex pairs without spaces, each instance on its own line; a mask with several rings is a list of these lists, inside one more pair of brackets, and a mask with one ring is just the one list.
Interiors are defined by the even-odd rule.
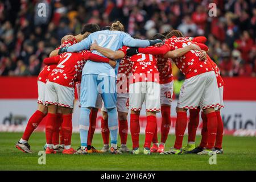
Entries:
[[[34,154],[15,148],[21,133],[0,133],[0,170],[256,170],[256,138],[224,136],[224,154],[217,155],[217,164],[208,163],[209,156],[199,155],[62,155],[46,156],[46,165],[38,164],[38,151],[45,144],[44,133],[34,133],[30,145]],[[170,135],[166,148],[174,144]],[[141,151],[144,135],[140,137]],[[184,141],[187,136],[184,137]],[[196,138],[197,143],[200,137]],[[185,142],[184,142],[185,143]],[[79,134],[73,134],[72,146],[79,146]],[[93,146],[102,147],[101,134],[95,134]],[[131,137],[128,136],[131,148]]]

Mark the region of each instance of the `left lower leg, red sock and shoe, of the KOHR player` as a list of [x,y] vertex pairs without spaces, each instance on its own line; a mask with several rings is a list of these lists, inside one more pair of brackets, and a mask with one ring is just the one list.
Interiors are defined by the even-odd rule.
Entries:
[[139,114],[140,111],[131,110],[130,114],[130,131],[131,131],[131,140],[133,142],[132,154],[139,154]]

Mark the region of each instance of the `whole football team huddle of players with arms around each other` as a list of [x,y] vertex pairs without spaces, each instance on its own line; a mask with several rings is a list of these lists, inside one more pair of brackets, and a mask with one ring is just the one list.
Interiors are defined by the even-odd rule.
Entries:
[[[38,76],[38,109],[27,123],[19,150],[32,153],[28,139],[46,117],[46,154],[110,152],[139,154],[139,115],[144,103],[147,124],[143,154],[222,154],[224,82],[217,65],[207,55],[204,36],[184,37],[178,30],[155,34],[152,40],[132,38],[119,21],[100,30],[85,24],[79,35],[66,35],[61,45],[43,60]],[[172,62],[185,80],[176,106],[175,144],[164,150],[171,127]],[[76,89],[75,89],[76,88]],[[71,147],[75,90],[79,97],[81,146]],[[102,111],[103,147],[92,146],[98,110]],[[130,125],[127,115],[130,110]],[[188,142],[183,144],[189,110]],[[201,143],[196,130],[203,119]],[[158,141],[156,113],[162,114]],[[130,126],[133,148],[127,147]],[[121,146],[117,146],[118,133]],[[110,142],[109,142],[110,138]]]

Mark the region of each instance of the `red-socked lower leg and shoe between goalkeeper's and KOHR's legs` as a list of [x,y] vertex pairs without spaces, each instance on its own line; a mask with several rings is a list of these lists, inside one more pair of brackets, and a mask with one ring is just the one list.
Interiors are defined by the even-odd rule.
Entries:
[[121,152],[130,152],[129,148],[127,147],[127,132],[128,132],[128,122],[127,122],[127,115],[128,113],[118,111],[118,122],[119,122],[119,135],[121,138]]

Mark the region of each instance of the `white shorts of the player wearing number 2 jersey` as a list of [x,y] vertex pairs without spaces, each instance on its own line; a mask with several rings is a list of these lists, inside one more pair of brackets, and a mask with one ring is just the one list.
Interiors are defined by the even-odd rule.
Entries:
[[74,107],[75,89],[56,84],[55,82],[46,82],[46,105],[54,104],[62,107]]

